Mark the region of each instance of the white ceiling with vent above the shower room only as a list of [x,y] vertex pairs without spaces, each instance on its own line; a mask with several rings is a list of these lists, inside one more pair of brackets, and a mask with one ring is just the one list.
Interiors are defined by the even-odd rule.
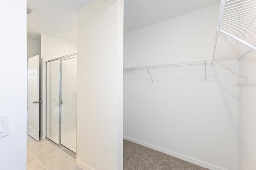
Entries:
[[40,34],[77,40],[77,11],[92,0],[27,0],[27,6],[36,9],[27,14],[27,36],[40,40]]

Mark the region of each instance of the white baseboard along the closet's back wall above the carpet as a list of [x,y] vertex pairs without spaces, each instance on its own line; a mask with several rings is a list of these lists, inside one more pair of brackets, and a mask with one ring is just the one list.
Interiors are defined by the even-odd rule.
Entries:
[[197,159],[194,159],[194,158],[190,158],[188,156],[185,156],[185,155],[182,155],[182,154],[179,154],[179,153],[176,153],[176,152],[173,152],[173,151],[170,151],[170,150],[167,150],[167,149],[164,149],[164,148],[160,148],[158,146],[155,146],[155,145],[152,145],[152,144],[149,144],[149,143],[146,143],[146,142],[142,142],[140,140],[136,140],[134,138],[130,138],[128,136],[124,136],[124,139],[125,140],[129,140],[131,142],[134,142],[134,143],[137,143],[137,144],[140,144],[142,146],[146,146],[148,148],[151,148],[151,149],[154,149],[154,150],[157,150],[159,152],[162,152],[162,153],[165,153],[165,154],[168,154],[168,155],[171,155],[171,156],[174,156],[176,158],[179,158],[179,159],[182,159],[182,160],[185,160],[187,162],[191,162],[192,164],[196,164],[196,165],[199,165],[199,166],[202,166],[204,168],[208,168],[210,170],[227,170],[225,168],[221,168],[219,166],[215,166],[213,164],[209,164],[209,163],[206,163],[206,162],[203,162],[201,160],[197,160]]

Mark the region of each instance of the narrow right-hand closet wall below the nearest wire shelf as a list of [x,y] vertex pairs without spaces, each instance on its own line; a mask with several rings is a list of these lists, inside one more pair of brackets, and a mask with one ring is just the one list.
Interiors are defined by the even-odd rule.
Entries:
[[[239,61],[240,73],[246,75],[239,83],[239,169],[256,169],[256,51]],[[252,84],[250,84],[252,83]]]

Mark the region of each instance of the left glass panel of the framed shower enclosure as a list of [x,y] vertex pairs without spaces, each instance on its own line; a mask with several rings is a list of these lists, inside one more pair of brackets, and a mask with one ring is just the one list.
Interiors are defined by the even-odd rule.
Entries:
[[46,137],[59,144],[59,62],[46,63]]

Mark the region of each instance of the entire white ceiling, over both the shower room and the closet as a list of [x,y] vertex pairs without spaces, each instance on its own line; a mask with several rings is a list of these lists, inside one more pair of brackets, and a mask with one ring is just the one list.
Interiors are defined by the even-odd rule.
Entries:
[[[36,12],[27,15],[27,36],[46,33],[77,41],[77,11],[92,0],[27,0]],[[125,0],[124,32],[218,4],[220,0]]]

